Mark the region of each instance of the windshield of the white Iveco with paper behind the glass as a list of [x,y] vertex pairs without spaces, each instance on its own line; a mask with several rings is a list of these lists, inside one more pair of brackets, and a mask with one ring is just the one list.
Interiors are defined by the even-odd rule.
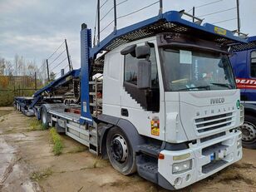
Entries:
[[161,48],[166,91],[235,88],[229,58],[219,52]]

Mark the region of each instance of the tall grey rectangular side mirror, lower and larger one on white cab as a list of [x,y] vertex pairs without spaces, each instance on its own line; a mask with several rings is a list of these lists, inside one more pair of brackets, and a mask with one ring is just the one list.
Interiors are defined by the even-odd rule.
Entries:
[[145,60],[138,61],[137,86],[139,89],[151,88],[151,62]]

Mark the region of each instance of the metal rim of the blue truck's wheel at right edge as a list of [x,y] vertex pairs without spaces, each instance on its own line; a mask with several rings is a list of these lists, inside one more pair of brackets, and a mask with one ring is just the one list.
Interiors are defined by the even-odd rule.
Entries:
[[244,125],[241,126],[242,140],[253,141],[256,139],[256,127],[254,124],[244,121]]

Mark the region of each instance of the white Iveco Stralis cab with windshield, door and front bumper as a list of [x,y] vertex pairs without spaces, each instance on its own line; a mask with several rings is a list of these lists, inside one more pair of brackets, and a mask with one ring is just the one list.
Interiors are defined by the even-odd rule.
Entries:
[[157,163],[175,189],[242,158],[239,90],[228,53],[190,39],[163,33],[130,42],[108,52],[104,63],[102,114],[177,146],[160,150]]

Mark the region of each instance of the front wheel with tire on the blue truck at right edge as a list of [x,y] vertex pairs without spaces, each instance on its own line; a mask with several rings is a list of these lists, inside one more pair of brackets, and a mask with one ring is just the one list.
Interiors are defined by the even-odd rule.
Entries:
[[243,147],[256,149],[256,119],[254,116],[244,116],[244,125],[240,127],[242,131]]

